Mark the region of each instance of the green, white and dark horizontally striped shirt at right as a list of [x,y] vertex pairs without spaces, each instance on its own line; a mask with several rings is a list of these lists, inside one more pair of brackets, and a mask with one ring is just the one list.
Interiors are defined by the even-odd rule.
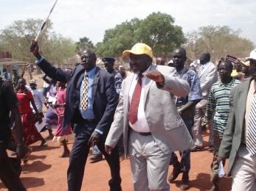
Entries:
[[229,118],[229,95],[232,87],[240,84],[238,79],[232,79],[229,84],[223,84],[221,80],[212,84],[207,101],[207,111],[204,115],[202,126],[210,122],[212,114],[215,112],[213,129],[224,133],[227,119]]

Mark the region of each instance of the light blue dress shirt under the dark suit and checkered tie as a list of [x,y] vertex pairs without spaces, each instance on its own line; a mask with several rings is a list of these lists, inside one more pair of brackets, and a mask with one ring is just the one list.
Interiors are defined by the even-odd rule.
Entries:
[[[85,71],[83,79],[82,79],[82,83],[80,85],[80,99],[79,99],[79,110],[80,110],[80,114],[82,115],[82,117],[84,119],[94,119],[94,111],[93,111],[93,107],[92,107],[92,101],[91,101],[91,92],[92,92],[92,84],[94,81],[94,75],[95,75],[95,71],[96,71],[96,67],[93,68],[91,71],[87,72]],[[82,100],[82,95],[83,95],[83,83],[84,83],[84,77],[86,76],[86,74],[89,77],[89,84],[88,84],[88,107],[86,110],[83,110],[81,108],[81,100]]]

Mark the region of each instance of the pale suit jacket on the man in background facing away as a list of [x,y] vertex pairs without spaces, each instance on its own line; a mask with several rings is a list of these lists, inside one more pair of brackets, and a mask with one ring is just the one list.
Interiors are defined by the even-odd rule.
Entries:
[[199,67],[198,77],[200,79],[200,86],[204,99],[196,104],[197,108],[207,108],[207,100],[212,84],[214,84],[218,80],[217,68],[212,62],[207,65],[207,68],[205,68],[204,71],[202,71],[202,67],[202,65]]

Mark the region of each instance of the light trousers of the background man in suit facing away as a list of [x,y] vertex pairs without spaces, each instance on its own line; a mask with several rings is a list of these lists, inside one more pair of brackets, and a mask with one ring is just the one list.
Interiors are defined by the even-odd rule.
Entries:
[[[196,115],[194,117],[194,126],[192,128],[192,133],[193,133],[193,139],[195,141],[195,144],[197,147],[202,147],[204,146],[204,140],[202,137],[202,131],[201,131],[201,118],[204,118],[204,114],[206,112],[206,108],[196,108]],[[208,123],[209,126],[209,145],[213,145],[213,116],[212,114],[212,119],[210,120],[210,123]]]

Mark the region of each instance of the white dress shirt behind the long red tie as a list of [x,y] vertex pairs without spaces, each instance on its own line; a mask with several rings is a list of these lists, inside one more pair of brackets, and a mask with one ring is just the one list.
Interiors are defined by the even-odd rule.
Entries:
[[[148,126],[148,121],[145,116],[144,112],[144,87],[145,87],[145,82],[146,82],[146,76],[145,73],[147,73],[150,70],[151,66],[144,72],[142,73],[142,92],[140,93],[140,98],[139,98],[139,108],[138,108],[138,115],[136,122],[132,125],[129,121],[129,126],[131,126],[131,129],[134,129],[134,131],[137,132],[150,132],[151,130],[149,129]],[[137,81],[138,81],[138,74],[134,74],[134,79],[131,82],[131,88],[129,91],[129,102],[131,104],[131,97],[134,93],[134,89],[136,87]]]

